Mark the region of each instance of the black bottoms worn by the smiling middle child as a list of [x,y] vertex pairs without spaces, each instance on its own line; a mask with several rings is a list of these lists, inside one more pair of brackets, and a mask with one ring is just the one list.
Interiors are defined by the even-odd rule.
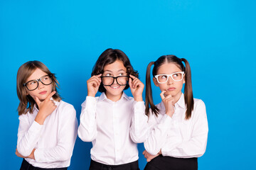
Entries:
[[89,170],[139,170],[139,163],[136,161],[128,164],[107,165],[95,162],[91,159]]

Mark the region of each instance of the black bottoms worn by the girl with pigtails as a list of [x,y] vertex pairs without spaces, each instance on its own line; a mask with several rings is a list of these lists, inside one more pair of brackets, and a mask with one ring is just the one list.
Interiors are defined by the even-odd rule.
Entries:
[[174,158],[163,157],[159,155],[150,162],[148,162],[144,170],[197,170],[198,159],[197,158]]

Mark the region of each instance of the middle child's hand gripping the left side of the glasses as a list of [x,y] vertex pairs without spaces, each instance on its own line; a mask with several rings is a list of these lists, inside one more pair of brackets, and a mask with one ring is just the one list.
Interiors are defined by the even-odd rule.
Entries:
[[88,91],[87,96],[95,97],[95,95],[97,94],[97,91],[100,87],[101,75],[102,74],[92,76],[90,79],[87,80],[87,91]]

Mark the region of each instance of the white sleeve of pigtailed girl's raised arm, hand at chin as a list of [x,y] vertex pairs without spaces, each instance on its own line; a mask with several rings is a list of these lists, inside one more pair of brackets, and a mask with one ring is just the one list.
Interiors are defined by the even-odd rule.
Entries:
[[[160,115],[158,115],[160,116]],[[169,115],[164,114],[159,123],[156,115],[150,112],[149,116],[149,135],[144,142],[144,147],[149,154],[156,155],[166,142],[169,131],[174,136],[178,136],[178,130],[174,125],[174,120]]]

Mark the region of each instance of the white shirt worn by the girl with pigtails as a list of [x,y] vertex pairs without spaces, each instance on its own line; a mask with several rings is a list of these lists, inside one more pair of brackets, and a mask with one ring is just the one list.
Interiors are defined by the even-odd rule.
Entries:
[[194,98],[191,118],[186,120],[186,105],[183,94],[175,103],[172,118],[166,115],[164,103],[156,105],[159,115],[149,115],[149,137],[144,147],[149,154],[157,154],[160,149],[163,156],[190,158],[201,157],[206,152],[208,121],[206,106],[200,99]]

